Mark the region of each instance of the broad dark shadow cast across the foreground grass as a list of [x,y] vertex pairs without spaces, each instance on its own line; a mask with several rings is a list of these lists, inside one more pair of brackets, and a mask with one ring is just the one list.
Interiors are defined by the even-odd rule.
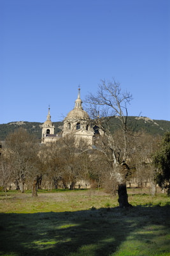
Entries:
[[[159,234],[160,226],[169,234],[169,209],[167,205],[0,214],[0,255],[108,256],[131,234],[146,244]],[[146,227],[154,227],[155,234],[145,232]]]

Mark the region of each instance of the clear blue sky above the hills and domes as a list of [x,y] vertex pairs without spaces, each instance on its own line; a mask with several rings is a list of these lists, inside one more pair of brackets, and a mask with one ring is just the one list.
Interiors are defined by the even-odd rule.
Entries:
[[0,0],[0,124],[61,121],[101,79],[170,120],[169,0]]

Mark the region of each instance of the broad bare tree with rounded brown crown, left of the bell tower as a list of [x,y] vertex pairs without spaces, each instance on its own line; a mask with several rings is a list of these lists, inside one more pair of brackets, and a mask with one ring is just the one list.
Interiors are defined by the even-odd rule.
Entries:
[[[10,159],[13,180],[17,180],[20,190],[24,192],[25,182],[34,179],[37,159],[37,145],[34,136],[24,129],[8,135],[5,141],[6,156]],[[33,184],[34,185],[34,184]]]

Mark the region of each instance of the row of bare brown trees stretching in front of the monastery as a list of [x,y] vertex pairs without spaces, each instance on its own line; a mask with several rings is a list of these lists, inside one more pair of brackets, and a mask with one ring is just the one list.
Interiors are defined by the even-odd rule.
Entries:
[[[120,138],[118,136],[119,132],[115,132],[115,138]],[[139,184],[148,182],[155,188],[152,155],[159,148],[160,137],[143,133],[133,138],[129,140],[126,180],[129,183],[135,180]],[[97,136],[96,148],[101,143],[99,140]],[[90,149],[83,141],[77,145],[71,136],[56,144],[42,145],[20,127],[8,135],[1,148],[0,186],[6,191],[9,184],[15,184],[15,188],[22,193],[24,189],[32,188],[32,196],[37,196],[37,189],[74,189],[77,182],[83,182],[115,193],[117,184],[115,177],[110,175],[110,162],[103,150],[96,148]]]

